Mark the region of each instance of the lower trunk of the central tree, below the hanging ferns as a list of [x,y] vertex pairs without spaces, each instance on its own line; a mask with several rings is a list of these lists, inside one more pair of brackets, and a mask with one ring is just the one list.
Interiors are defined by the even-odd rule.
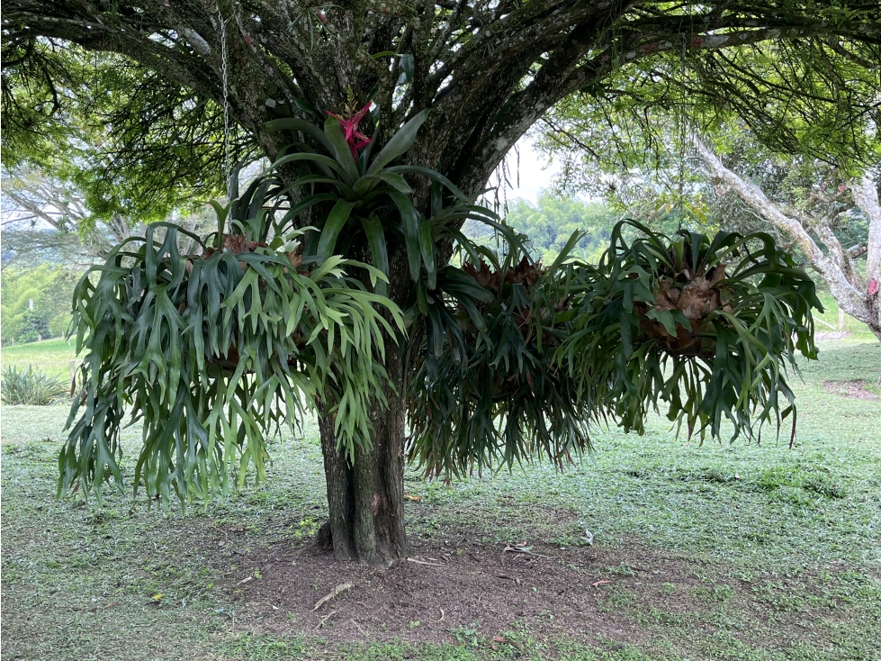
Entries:
[[385,367],[397,392],[387,388],[386,408],[374,405],[373,445],[355,450],[354,466],[337,451],[333,418],[319,420],[330,520],[317,541],[329,541],[337,560],[382,567],[407,555],[403,370],[398,348],[391,341],[387,345]]

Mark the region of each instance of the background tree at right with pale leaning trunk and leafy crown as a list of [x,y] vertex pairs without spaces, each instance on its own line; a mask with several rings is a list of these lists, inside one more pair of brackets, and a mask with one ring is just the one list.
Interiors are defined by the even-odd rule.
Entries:
[[[881,143],[874,123],[859,138],[867,158],[860,163],[850,152],[820,158],[811,143],[776,151],[772,136],[731,112],[715,123],[721,112],[711,122],[699,106],[688,107],[688,116],[655,106],[632,122],[631,110],[607,117],[619,124],[612,138],[598,136],[598,119],[607,115],[601,104],[555,111],[544,148],[564,161],[564,189],[603,195],[666,231],[771,231],[814,267],[841,310],[881,337]],[[693,122],[702,121],[698,135]]]

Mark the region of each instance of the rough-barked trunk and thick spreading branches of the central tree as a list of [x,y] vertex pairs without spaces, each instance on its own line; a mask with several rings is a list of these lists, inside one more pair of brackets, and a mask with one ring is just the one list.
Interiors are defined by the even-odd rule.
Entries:
[[[810,7],[781,12],[773,3],[755,5],[383,0],[322,8],[297,0],[8,0],[4,48],[8,43],[16,57],[21,52],[26,58],[34,39],[41,38],[121,53],[228,104],[231,119],[253,134],[269,158],[283,137],[263,126],[280,106],[296,110],[298,101],[306,101],[319,111],[339,113],[350,97],[364,104],[369,95],[381,110],[382,121],[373,127],[380,145],[406,119],[431,108],[406,160],[436,168],[473,194],[553,104],[574,92],[591,92],[637,60],[813,36],[874,40],[881,32],[862,14],[853,14],[858,16],[853,21],[828,21]],[[396,87],[404,57],[410,56],[409,84]],[[414,185],[415,200],[424,204],[426,182]],[[406,268],[392,274],[396,303],[406,302],[409,288]],[[334,551],[340,559],[375,565],[406,553],[405,375],[391,341],[388,349],[386,368],[397,390],[386,393],[387,409],[377,406],[373,413],[373,448],[347,466],[338,456],[332,421],[325,417],[320,423]]]

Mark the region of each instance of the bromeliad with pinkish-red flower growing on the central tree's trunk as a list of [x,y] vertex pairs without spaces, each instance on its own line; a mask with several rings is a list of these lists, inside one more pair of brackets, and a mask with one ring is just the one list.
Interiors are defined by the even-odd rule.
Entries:
[[[289,224],[310,208],[320,205],[329,209],[312,223],[317,231],[306,235],[302,254],[305,258],[328,258],[346,255],[350,246],[364,239],[370,247],[373,266],[389,274],[388,242],[401,240],[407,250],[409,276],[413,281],[425,278],[429,289],[436,286],[438,267],[436,243],[441,234],[454,235],[464,240],[457,226],[466,218],[493,222],[488,209],[473,204],[446,177],[430,168],[413,165],[391,166],[390,163],[412,147],[419,127],[427,119],[425,110],[405,123],[385,146],[373,152],[376,144],[358,131],[358,123],[364,118],[367,107],[353,117],[341,120],[331,114],[323,129],[312,122],[296,118],[283,118],[267,124],[270,131],[289,131],[310,140],[294,140],[277,158],[273,170],[299,165],[310,169],[309,174],[296,178],[290,186],[279,192],[283,197],[294,190],[310,186],[304,195],[285,213],[276,231],[285,231]],[[360,150],[360,154],[359,154]],[[413,189],[404,178],[428,177],[432,180],[430,213],[420,213],[413,204]],[[445,194],[444,189],[448,191]],[[445,197],[452,196],[454,204],[445,204]],[[387,295],[388,284],[382,281],[377,294]]]

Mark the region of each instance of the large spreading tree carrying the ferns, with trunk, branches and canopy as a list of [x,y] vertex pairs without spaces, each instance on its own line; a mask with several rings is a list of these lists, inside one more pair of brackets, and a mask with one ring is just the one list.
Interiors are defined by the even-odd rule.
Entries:
[[[150,77],[144,90],[147,103],[132,106],[143,131],[122,136],[127,143],[149,144],[157,108],[162,109],[160,118],[172,119],[166,126],[192,125],[204,113],[214,127],[223,116],[218,109],[224,108],[229,123],[274,158],[290,137],[267,131],[266,122],[280,115],[308,119],[325,112],[343,114],[373,102],[380,122],[369,126],[372,121],[365,118],[365,131],[382,147],[404,122],[430,109],[405,161],[434,168],[465,195],[481,191],[508,150],[553,104],[573,93],[598,92],[617,72],[644,62],[662,63],[657,75],[673,76],[670,54],[683,50],[706,64],[704,85],[716,91],[716,98],[736,82],[742,88],[740,102],[748,103],[752,94],[760,106],[760,86],[741,85],[744,79],[765,79],[760,70],[750,70],[750,61],[785,61],[780,77],[787,89],[797,93],[804,88],[800,78],[805,76],[823,86],[822,97],[805,95],[812,113],[823,116],[826,105],[837,104],[850,119],[859,115],[859,104],[850,103],[847,89],[824,78],[824,72],[830,58],[843,67],[863,59],[862,51],[877,47],[881,39],[875,4],[792,0],[370,0],[327,5],[10,0],[4,5],[3,26],[4,128],[7,144],[21,146],[22,152],[40,149],[40,140],[31,139],[35,131],[57,134],[53,122],[65,95],[89,94],[84,86],[72,92],[67,80],[66,50],[76,47],[118,55]],[[733,61],[731,54],[737,51],[745,54]],[[111,74],[112,68],[102,72]],[[102,84],[99,77],[92,87]],[[175,117],[189,123],[175,123]],[[832,131],[825,138],[846,142],[848,136],[847,131]],[[186,135],[166,134],[164,140],[164,148],[175,147],[163,152],[169,171],[182,163],[192,167],[204,157],[200,145]],[[137,158],[127,163],[131,168],[140,165]],[[179,171],[185,171],[183,166]],[[283,172],[284,177],[299,174],[297,168]],[[430,180],[417,177],[411,186],[414,203],[428,215]],[[300,222],[313,220],[304,213]],[[441,241],[439,258],[444,262],[451,256],[452,241],[449,236]],[[389,240],[389,295],[400,306],[414,291],[404,244]],[[350,245],[348,254],[364,258],[370,250]],[[640,263],[638,255],[634,259]],[[671,267],[676,267],[675,260]],[[724,268],[705,275],[720,273]],[[492,285],[481,271],[475,277]],[[535,281],[528,272],[512,277]],[[663,336],[659,329],[652,332]],[[369,447],[356,448],[354,462],[347,461],[332,417],[320,421],[335,553],[376,564],[406,552],[402,471],[407,363],[391,333],[385,343],[388,380],[370,415]],[[644,406],[631,404],[630,411],[622,404],[625,409],[619,412],[639,427],[635,419]]]

